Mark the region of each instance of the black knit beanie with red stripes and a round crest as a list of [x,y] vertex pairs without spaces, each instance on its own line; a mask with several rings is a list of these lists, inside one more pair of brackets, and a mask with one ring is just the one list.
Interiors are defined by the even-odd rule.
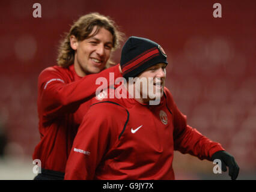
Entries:
[[123,77],[136,77],[147,68],[159,64],[168,64],[162,47],[154,41],[141,37],[129,37],[121,53]]

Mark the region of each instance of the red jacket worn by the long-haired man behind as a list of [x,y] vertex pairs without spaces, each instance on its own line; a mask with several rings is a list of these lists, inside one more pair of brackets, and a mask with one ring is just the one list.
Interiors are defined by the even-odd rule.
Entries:
[[37,107],[41,140],[32,158],[40,159],[43,169],[65,171],[73,139],[100,86],[96,79],[109,81],[111,72],[121,77],[118,65],[85,77],[76,74],[74,65],[49,67],[40,73]]

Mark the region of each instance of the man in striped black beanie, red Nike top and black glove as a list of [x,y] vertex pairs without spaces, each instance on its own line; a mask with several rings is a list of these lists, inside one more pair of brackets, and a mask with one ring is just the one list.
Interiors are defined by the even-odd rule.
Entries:
[[[175,179],[174,150],[201,160],[218,158],[222,170],[228,166],[231,179],[237,178],[234,158],[187,125],[186,116],[165,88],[168,62],[159,44],[130,37],[120,65],[127,83],[115,89],[119,91],[114,98],[94,98],[73,143],[65,179]],[[159,103],[150,104],[157,95]]]

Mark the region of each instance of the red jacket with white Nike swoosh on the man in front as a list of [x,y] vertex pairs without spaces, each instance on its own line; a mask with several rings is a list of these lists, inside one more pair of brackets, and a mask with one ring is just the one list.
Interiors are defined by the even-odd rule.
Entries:
[[65,179],[175,179],[174,150],[208,159],[224,150],[186,124],[165,88],[160,104],[94,98],[73,143]]

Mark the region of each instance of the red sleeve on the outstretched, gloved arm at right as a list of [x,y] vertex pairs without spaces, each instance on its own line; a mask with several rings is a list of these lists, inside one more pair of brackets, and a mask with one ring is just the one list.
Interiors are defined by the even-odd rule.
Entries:
[[194,155],[201,160],[210,160],[215,152],[224,150],[221,144],[213,142],[195,128],[187,125],[186,116],[178,110],[172,95],[170,93],[168,95],[172,115],[174,116],[174,150],[183,154]]

